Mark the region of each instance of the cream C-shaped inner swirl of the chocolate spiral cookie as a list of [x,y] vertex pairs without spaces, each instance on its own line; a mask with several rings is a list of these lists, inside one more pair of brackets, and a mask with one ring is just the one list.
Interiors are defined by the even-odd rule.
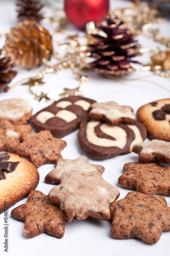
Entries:
[[87,124],[86,136],[87,140],[97,146],[117,146],[119,148],[124,148],[127,143],[127,134],[124,129],[110,124],[102,124],[100,129],[105,134],[112,136],[115,140],[109,140],[105,138],[99,138],[94,132],[95,126],[97,126],[99,121],[90,121]]

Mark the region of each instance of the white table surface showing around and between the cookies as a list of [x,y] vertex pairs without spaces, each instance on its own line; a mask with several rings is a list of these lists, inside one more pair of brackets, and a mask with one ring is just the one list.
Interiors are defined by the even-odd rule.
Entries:
[[[10,29],[12,26],[17,24],[15,5],[13,0],[6,0],[0,3],[0,33]],[[113,1],[112,1],[113,2]],[[121,2],[116,1],[115,5],[118,6]],[[114,5],[112,4],[112,8]],[[45,15],[50,13],[46,9]],[[162,33],[169,32],[169,23],[156,25],[159,26]],[[72,28],[70,26],[70,28]],[[169,34],[170,36],[170,34]],[[144,36],[138,37],[139,42],[143,48],[152,49],[155,45],[159,44],[150,41]],[[0,41],[3,45],[3,40]],[[160,46],[163,49],[162,46]],[[145,54],[138,57],[138,59],[144,63],[149,61],[150,54]],[[83,91],[86,93],[85,97],[92,98],[99,102],[105,101],[116,101],[119,104],[130,105],[134,109],[134,113],[138,108],[151,101],[158,99],[169,98],[170,93],[170,82],[167,78],[153,75],[151,72],[141,72],[140,66],[135,65],[136,72],[131,74],[127,81],[120,80],[118,78],[109,80],[105,77],[100,76],[95,72],[84,73],[89,77],[89,82],[85,83]],[[10,83],[10,86],[15,82],[19,81],[24,77],[34,77],[38,71],[42,68],[36,68],[30,71],[26,71],[19,67],[15,68],[18,71],[18,75]],[[139,79],[143,76],[150,76],[145,78],[144,81]],[[134,80],[136,79],[136,80]],[[151,81],[151,82],[149,82]],[[75,79],[74,75],[69,70],[62,70],[57,74],[50,74],[45,77],[45,85],[39,87],[40,91],[44,93],[53,91],[55,97],[63,92],[63,88],[76,88],[79,81]],[[166,90],[157,86],[156,83],[163,86]],[[0,93],[0,100],[21,97],[28,100],[33,106],[33,114],[37,111],[45,108],[45,106],[51,104],[45,102],[39,104],[34,99],[34,95],[29,92],[28,86],[17,86],[8,93]],[[67,135],[63,139],[67,142],[66,148],[62,151],[63,158],[75,159],[83,155],[77,139],[78,131]],[[148,139],[147,139],[148,140]],[[146,140],[146,141],[147,141]],[[123,165],[127,162],[137,161],[137,155],[134,153],[117,156],[111,159],[97,161],[89,158],[90,163],[101,164],[105,167],[103,178],[109,183],[115,185],[120,191],[119,199],[123,199],[127,193],[131,190],[123,188],[118,185],[117,179],[123,173]],[[43,165],[38,168],[40,174],[40,181],[37,189],[42,191],[44,194],[48,194],[54,185],[45,184],[44,177],[48,172],[54,169],[54,164]],[[170,206],[170,198],[165,197],[168,206]],[[4,243],[4,215],[0,216],[0,253],[1,255],[26,255],[26,256],[43,256],[43,255],[107,255],[107,256],[129,256],[129,255],[169,255],[169,239],[170,231],[164,232],[160,240],[154,245],[148,245],[143,243],[141,240],[129,239],[129,240],[114,240],[111,238],[111,222],[100,221],[92,218],[88,218],[84,221],[73,221],[66,223],[65,234],[62,239],[56,239],[54,237],[47,236],[47,234],[41,234],[32,239],[26,239],[23,237],[24,223],[13,220],[10,217],[11,210],[20,204],[26,203],[27,198],[19,201],[13,207],[8,210],[9,217],[9,251],[8,253],[3,249]]]

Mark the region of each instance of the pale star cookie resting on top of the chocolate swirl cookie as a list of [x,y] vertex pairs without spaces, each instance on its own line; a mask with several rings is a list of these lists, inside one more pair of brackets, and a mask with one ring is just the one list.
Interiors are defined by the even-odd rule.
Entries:
[[113,125],[118,123],[135,124],[136,116],[133,114],[133,109],[130,106],[120,106],[114,101],[105,103],[93,103],[90,106],[88,116],[91,119],[105,121]]

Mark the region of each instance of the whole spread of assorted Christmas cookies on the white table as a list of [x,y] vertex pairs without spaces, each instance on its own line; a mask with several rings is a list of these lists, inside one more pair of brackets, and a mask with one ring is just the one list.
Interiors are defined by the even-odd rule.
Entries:
[[[32,106],[23,99],[0,102],[0,212],[22,198],[28,203],[11,211],[25,222],[24,233],[32,238],[47,233],[64,235],[65,222],[89,216],[112,220],[115,239],[137,237],[156,243],[162,231],[170,230],[170,208],[162,196],[170,195],[170,99],[158,100],[138,110],[137,121],[130,106],[116,102],[69,96],[32,116]],[[32,132],[32,126],[38,133]],[[86,156],[63,159],[66,141],[60,138],[79,128],[82,151],[98,160],[135,152],[138,162],[126,163],[118,183],[137,192],[119,201],[119,190],[102,178],[105,168],[90,164]],[[153,139],[143,142],[148,135]],[[22,158],[26,157],[30,161]],[[56,163],[44,181],[55,184],[46,196],[34,190],[39,182],[36,168]],[[12,189],[11,189],[12,184]],[[10,193],[9,193],[10,188]]]

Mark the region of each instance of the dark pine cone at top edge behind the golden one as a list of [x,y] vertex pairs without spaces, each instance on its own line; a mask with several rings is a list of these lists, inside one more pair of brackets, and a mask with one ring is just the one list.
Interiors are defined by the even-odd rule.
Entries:
[[19,21],[29,19],[39,22],[43,18],[43,15],[40,14],[43,4],[39,0],[17,0],[16,6]]

